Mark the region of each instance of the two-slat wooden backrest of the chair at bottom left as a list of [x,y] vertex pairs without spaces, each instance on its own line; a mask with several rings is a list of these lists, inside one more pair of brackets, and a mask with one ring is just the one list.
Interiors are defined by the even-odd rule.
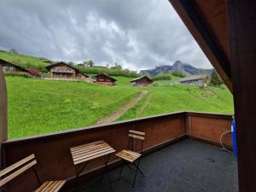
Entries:
[[0,177],[2,178],[0,180],[0,187],[2,187],[5,183],[8,183],[15,177],[19,176],[21,173],[26,172],[26,170],[28,170],[32,166],[35,166],[36,164],[37,160],[35,159],[35,154],[31,154],[25,159],[16,162],[12,166],[3,169],[0,172]]

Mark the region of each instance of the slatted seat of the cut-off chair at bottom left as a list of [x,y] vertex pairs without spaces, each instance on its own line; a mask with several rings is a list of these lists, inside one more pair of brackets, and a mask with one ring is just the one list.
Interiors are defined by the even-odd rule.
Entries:
[[66,180],[46,181],[35,192],[57,192],[66,182]]

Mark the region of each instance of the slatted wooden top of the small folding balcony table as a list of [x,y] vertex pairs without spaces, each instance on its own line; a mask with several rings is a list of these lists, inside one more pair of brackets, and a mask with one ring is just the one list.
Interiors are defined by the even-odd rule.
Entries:
[[74,148],[70,148],[73,157],[73,164],[78,165],[88,160],[93,160],[106,154],[115,152],[108,143],[104,141],[88,143]]

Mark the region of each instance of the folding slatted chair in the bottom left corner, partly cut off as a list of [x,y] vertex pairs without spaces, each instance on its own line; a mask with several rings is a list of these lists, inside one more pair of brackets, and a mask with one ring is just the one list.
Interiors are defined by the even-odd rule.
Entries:
[[38,183],[40,184],[39,188],[35,190],[35,192],[57,192],[61,189],[61,187],[66,183],[66,180],[59,181],[46,181],[43,184],[41,183],[38,172],[35,168],[37,164],[37,160],[35,159],[35,155],[31,154],[23,160],[16,162],[14,165],[9,166],[3,169],[0,172],[0,187],[3,187],[6,183],[19,176],[21,173],[26,172],[28,169],[33,168],[35,173],[35,177],[38,179]]

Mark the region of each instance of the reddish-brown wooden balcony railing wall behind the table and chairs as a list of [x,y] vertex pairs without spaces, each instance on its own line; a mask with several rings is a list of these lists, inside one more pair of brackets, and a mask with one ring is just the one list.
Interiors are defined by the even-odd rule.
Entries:
[[[213,113],[178,112],[132,119],[109,125],[96,125],[81,129],[61,131],[49,135],[8,140],[2,144],[2,167],[35,154],[38,160],[38,175],[44,180],[68,178],[67,188],[73,185],[75,170],[69,148],[84,143],[104,140],[116,151],[127,145],[130,129],[146,132],[144,153],[152,153],[185,137],[207,143],[219,144],[224,131],[230,131],[231,116]],[[230,134],[224,137],[224,144],[231,147]],[[136,145],[136,143],[135,143]],[[119,159],[111,156],[110,167],[119,166]],[[102,172],[102,163],[91,162],[89,172],[80,177],[80,182]],[[30,191],[37,186],[33,172],[26,172],[7,186],[7,191]]]

